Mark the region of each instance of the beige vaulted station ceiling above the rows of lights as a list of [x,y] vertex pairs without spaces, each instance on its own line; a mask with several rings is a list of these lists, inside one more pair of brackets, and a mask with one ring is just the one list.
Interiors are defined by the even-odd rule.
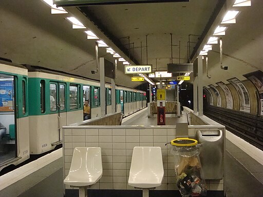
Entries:
[[[66,7],[69,14],[51,14],[50,7],[41,0],[1,0],[0,56],[18,64],[42,66],[98,80],[99,73],[91,74],[97,66],[95,41],[87,40],[84,30],[71,28],[65,17],[74,15],[128,62],[152,64],[154,71],[166,70],[172,56],[173,63],[195,61],[197,53],[193,51],[199,44],[202,47],[206,43],[211,29],[219,25],[218,20],[231,1]],[[242,74],[263,70],[263,4],[261,0],[252,0],[251,7],[238,9],[241,12],[236,24],[229,26],[222,37],[223,65],[229,69],[220,69],[219,44],[214,45],[208,53],[211,78],[206,77],[203,64],[205,86],[220,81],[228,83],[226,80],[233,77],[245,80]],[[189,38],[190,52],[187,50]],[[105,48],[99,48],[99,57],[114,62]],[[117,68],[117,85],[134,88],[141,83],[130,82],[131,75],[124,74],[121,62]],[[106,77],[106,81],[110,79]]]

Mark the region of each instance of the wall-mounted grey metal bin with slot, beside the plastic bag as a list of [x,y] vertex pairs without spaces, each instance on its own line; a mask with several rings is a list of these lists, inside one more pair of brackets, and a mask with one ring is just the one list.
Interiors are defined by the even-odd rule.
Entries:
[[223,133],[222,130],[198,130],[200,161],[204,179],[223,179]]

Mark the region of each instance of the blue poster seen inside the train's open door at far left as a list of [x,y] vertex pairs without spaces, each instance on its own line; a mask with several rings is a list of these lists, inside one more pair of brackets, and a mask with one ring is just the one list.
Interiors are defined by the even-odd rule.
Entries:
[[0,111],[13,111],[13,80],[0,81]]

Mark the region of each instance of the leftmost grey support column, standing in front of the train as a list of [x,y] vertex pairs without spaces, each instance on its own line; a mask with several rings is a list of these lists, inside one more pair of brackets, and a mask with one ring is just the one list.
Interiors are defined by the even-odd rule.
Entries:
[[105,74],[104,74],[104,57],[100,57],[100,104],[101,104],[101,117],[106,115],[106,98],[105,98]]

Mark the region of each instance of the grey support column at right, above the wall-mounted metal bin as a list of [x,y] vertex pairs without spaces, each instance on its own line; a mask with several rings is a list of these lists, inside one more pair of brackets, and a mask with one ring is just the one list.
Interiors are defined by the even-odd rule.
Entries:
[[202,56],[198,56],[198,115],[203,115],[203,59]]

